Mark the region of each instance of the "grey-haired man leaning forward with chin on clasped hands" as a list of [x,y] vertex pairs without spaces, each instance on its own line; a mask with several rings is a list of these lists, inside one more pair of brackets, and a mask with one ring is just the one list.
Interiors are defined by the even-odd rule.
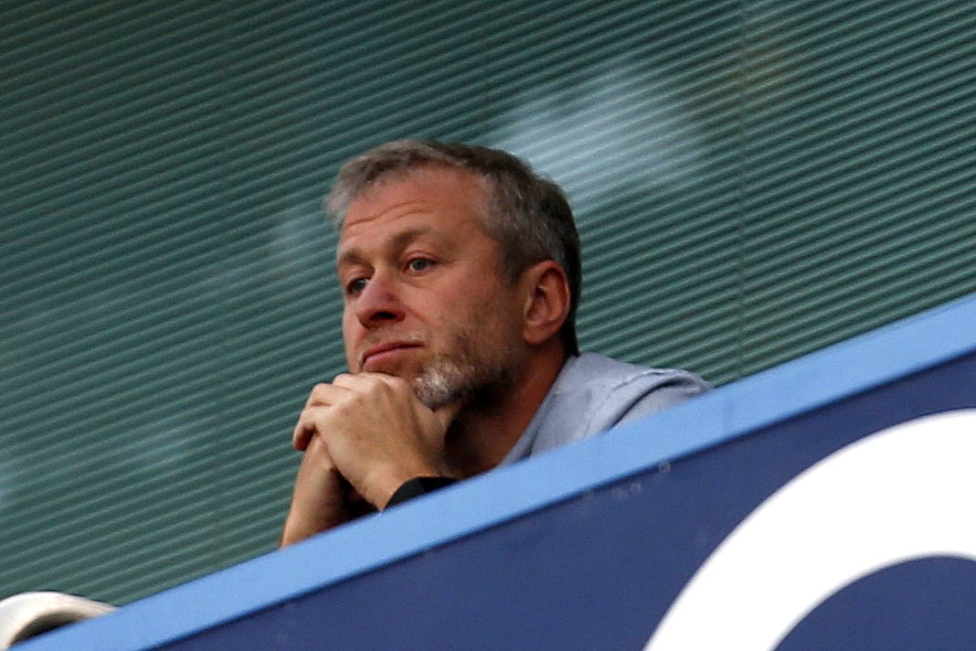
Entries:
[[580,247],[555,183],[493,149],[391,142],[329,197],[349,372],[314,387],[282,545],[705,390],[580,355]]

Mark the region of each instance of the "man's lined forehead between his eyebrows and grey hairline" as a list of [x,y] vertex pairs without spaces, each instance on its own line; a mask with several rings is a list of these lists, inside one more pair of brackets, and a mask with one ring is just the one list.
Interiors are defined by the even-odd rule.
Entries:
[[403,230],[476,228],[486,232],[487,193],[467,170],[430,166],[396,174],[353,199],[340,231],[340,255],[361,241]]

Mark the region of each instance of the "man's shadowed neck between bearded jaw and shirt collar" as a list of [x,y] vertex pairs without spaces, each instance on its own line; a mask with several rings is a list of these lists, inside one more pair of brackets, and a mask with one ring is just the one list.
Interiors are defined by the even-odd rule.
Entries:
[[496,399],[472,401],[458,414],[445,440],[451,476],[464,479],[495,468],[529,427],[567,357],[561,345],[535,352]]

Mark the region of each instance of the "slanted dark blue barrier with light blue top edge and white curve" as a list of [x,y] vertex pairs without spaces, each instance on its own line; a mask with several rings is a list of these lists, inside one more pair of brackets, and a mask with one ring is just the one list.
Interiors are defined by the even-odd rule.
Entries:
[[22,649],[976,648],[974,324],[976,296]]

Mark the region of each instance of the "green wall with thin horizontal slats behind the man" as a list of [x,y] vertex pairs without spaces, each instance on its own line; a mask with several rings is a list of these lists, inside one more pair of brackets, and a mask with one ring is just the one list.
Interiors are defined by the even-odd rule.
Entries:
[[0,596],[273,549],[340,162],[568,190],[585,347],[723,384],[976,291],[970,2],[0,4]]

